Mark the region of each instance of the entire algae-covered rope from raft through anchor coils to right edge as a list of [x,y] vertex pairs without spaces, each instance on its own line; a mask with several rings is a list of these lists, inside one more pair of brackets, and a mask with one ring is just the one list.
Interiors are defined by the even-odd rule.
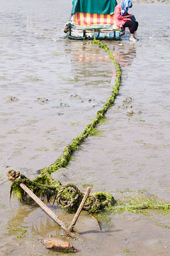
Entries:
[[[111,53],[111,50],[109,50],[106,43],[96,39],[94,39],[94,43],[97,44],[100,48],[103,48],[115,64],[117,75],[115,78],[115,85],[113,87],[111,97],[108,97],[105,105],[103,105],[102,109],[96,113],[96,117],[92,120],[92,122],[86,125],[84,131],[79,136],[74,138],[68,146],[64,147],[62,156],[60,156],[55,161],[55,163],[49,167],[41,169],[40,174],[34,180],[30,180],[29,178],[26,178],[26,176],[23,176],[19,172],[13,170],[7,173],[8,179],[13,181],[10,194],[17,194],[18,198],[20,198],[22,201],[25,201],[27,196],[26,193],[21,189],[20,183],[25,183],[26,186],[28,186],[28,188],[30,188],[30,190],[32,190],[33,193],[35,193],[37,196],[40,196],[41,198],[47,198],[47,201],[53,200],[68,211],[75,211],[79,207],[79,203],[81,202],[84,193],[81,193],[79,188],[77,188],[77,186],[74,184],[69,183],[65,186],[62,186],[60,181],[55,181],[52,178],[51,174],[67,166],[74,151],[79,149],[79,145],[81,145],[84,140],[89,137],[96,126],[101,122],[101,120],[105,118],[106,112],[108,111],[109,107],[113,106],[115,97],[118,95],[122,75],[120,65],[118,61],[115,60],[113,53]],[[157,203],[157,201],[151,200],[145,200],[144,202],[142,201],[142,198],[140,198],[140,201],[138,202],[130,201],[132,201],[132,198],[126,202],[116,202],[111,193],[104,193],[101,191],[92,193],[91,196],[87,198],[87,201],[84,205],[84,210],[88,210],[89,213],[96,213],[98,210],[107,207],[112,208],[112,206],[114,208],[113,212],[115,213],[123,212],[125,210],[139,212],[140,210],[147,208],[167,211],[170,210],[170,205],[166,202]]]

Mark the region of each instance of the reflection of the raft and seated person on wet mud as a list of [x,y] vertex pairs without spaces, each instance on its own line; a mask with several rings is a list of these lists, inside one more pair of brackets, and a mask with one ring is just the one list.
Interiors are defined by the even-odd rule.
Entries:
[[[76,82],[75,86],[101,85],[106,87],[106,83],[109,85],[112,76],[116,75],[115,65],[109,55],[104,50],[94,46],[92,41],[82,43],[81,41],[73,42],[67,39],[66,44],[68,41],[72,53],[71,63],[74,82]],[[122,68],[131,65],[134,58],[136,58],[135,44],[130,43],[127,46],[118,42],[106,43],[108,43],[115,59],[118,60]],[[67,46],[66,49],[68,51]]]

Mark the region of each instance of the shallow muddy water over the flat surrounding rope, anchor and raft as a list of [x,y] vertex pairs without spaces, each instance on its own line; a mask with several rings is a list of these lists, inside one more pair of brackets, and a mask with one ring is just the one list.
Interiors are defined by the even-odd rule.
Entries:
[[[37,239],[50,234],[61,239],[60,229],[40,208],[13,199],[10,205],[6,171],[34,178],[52,164],[96,117],[114,85],[115,67],[103,50],[63,37],[71,5],[1,1],[1,255],[54,255]],[[128,188],[146,190],[169,201],[169,9],[169,4],[135,4],[140,41],[129,42],[127,31],[123,41],[107,42],[123,72],[120,94],[98,136],[86,139],[69,166],[52,174],[63,184],[75,183],[82,191],[91,184],[92,192],[115,198],[127,195],[120,191]],[[126,97],[132,97],[131,117],[123,108]],[[72,215],[52,209],[71,222]],[[81,213],[76,228],[84,242],[72,243],[82,256],[169,255],[167,226],[169,215],[123,213],[109,215],[100,231]]]

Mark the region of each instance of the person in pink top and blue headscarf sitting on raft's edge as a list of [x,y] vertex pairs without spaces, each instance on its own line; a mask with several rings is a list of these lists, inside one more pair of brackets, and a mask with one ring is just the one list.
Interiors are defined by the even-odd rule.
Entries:
[[135,16],[132,14],[128,14],[128,9],[132,8],[132,1],[131,0],[122,0],[120,4],[115,6],[115,24],[118,27],[123,26],[125,28],[129,28],[130,30],[130,41],[137,41],[136,38],[136,31],[138,28],[138,22],[135,21]]

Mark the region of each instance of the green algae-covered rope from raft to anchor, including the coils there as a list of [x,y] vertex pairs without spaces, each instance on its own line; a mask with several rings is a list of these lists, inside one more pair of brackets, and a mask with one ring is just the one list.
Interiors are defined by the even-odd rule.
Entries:
[[[70,188],[70,184],[67,187],[62,187],[60,181],[55,181],[50,176],[50,174],[52,174],[52,172],[54,171],[57,171],[58,169],[67,166],[74,151],[79,149],[79,145],[84,142],[84,139],[86,139],[86,137],[89,137],[89,135],[94,131],[94,128],[96,128],[97,124],[99,124],[101,120],[105,118],[105,114],[108,108],[111,107],[115,102],[115,97],[118,95],[121,81],[120,65],[117,60],[115,60],[114,55],[113,53],[111,53],[111,50],[109,50],[107,44],[96,39],[94,39],[94,44],[97,44],[100,48],[103,48],[103,50],[108,53],[111,60],[113,60],[115,64],[117,75],[115,78],[115,86],[113,87],[111,97],[108,97],[105,105],[103,105],[102,109],[96,113],[96,117],[92,120],[92,122],[86,125],[84,131],[79,136],[74,138],[68,146],[64,147],[64,152],[62,156],[60,156],[57,161],[55,161],[55,163],[53,163],[49,167],[40,170],[40,174],[32,181],[30,181],[26,177],[22,179],[22,182],[25,183],[28,188],[33,190],[35,194],[38,194],[40,192],[41,196],[47,195],[47,199],[49,201],[53,196],[57,198],[58,204],[69,210],[75,210],[77,208],[77,205],[79,205],[78,203],[83,198],[83,193],[81,193],[78,188],[75,188],[75,186],[72,186],[72,188]],[[20,190],[19,184],[21,183],[21,177],[18,178],[17,176],[13,179],[12,174],[7,175],[8,177],[10,176],[11,179],[9,179],[13,181],[13,184],[11,186],[11,193],[15,193],[17,191],[18,196],[23,199],[26,195],[24,195],[23,191]],[[106,206],[110,206],[111,204],[113,204],[113,201],[114,198],[111,194],[98,192],[94,195],[91,194],[91,196],[89,196],[84,205],[84,209],[89,210],[90,212],[94,212]]]

